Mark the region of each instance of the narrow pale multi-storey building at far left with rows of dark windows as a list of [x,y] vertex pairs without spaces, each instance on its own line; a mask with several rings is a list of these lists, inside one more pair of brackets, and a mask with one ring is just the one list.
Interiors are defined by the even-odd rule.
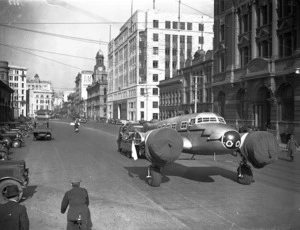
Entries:
[[26,114],[26,75],[27,68],[15,65],[8,65],[9,67],[9,86],[14,90],[13,93],[13,108],[14,118]]

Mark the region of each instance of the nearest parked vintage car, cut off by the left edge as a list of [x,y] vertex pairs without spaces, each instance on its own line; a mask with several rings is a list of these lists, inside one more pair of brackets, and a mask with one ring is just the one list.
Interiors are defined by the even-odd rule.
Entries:
[[0,203],[5,199],[8,185],[17,185],[20,191],[19,199],[23,196],[23,189],[29,183],[29,169],[24,160],[0,161]]

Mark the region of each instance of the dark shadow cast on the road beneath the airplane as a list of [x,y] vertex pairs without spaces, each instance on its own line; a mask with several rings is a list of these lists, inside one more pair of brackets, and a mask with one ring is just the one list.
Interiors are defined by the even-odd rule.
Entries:
[[[137,175],[141,180],[145,181],[148,167],[125,167],[130,177]],[[229,171],[224,168],[210,166],[210,167],[187,167],[181,164],[173,163],[166,166],[163,169],[162,183],[166,183],[170,180],[169,176],[182,177],[188,180],[212,183],[215,180],[213,176],[222,176],[229,180],[236,182],[237,173],[235,171]]]

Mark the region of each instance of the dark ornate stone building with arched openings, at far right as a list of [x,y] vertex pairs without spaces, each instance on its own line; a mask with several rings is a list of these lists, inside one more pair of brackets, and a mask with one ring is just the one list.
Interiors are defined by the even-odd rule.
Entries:
[[214,1],[214,110],[300,140],[299,0]]

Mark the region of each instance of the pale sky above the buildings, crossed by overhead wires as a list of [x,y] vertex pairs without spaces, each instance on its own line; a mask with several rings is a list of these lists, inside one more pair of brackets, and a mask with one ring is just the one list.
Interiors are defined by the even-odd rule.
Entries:
[[[0,61],[28,68],[56,90],[73,89],[93,71],[99,49],[136,10],[178,13],[178,0],[0,0]],[[180,12],[213,17],[214,0],[181,0]]]

